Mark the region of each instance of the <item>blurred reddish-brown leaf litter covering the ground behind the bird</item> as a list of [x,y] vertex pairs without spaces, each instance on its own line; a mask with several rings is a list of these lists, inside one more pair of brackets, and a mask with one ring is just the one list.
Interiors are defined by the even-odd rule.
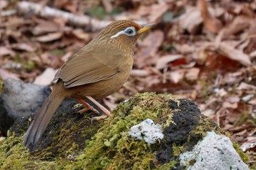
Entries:
[[0,0],[0,89],[10,77],[52,85],[56,70],[113,20],[157,23],[138,41],[128,82],[104,103],[113,109],[146,91],[189,98],[253,155],[255,15],[250,0]]

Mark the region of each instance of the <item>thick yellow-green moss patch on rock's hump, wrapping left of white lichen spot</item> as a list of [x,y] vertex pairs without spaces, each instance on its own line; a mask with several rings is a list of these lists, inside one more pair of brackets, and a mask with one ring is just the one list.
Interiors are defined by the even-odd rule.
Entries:
[[[137,94],[118,104],[108,123],[94,136],[86,147],[86,153],[80,157],[86,169],[149,169],[154,159],[154,145],[136,141],[127,135],[129,128],[150,118],[154,123],[173,123],[173,110],[169,101],[178,100],[171,95],[155,93]],[[170,167],[170,166],[169,166]]]

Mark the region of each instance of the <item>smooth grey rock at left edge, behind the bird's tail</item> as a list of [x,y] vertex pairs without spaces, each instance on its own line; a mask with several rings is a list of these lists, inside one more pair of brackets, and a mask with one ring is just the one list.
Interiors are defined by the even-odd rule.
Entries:
[[0,94],[0,98],[8,115],[16,119],[37,112],[49,94],[50,88],[47,86],[7,79],[4,80],[4,93]]

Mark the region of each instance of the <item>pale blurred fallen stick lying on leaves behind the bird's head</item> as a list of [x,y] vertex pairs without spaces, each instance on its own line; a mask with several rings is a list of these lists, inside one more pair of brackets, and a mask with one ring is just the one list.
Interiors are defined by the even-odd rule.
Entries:
[[27,14],[32,10],[34,11],[35,14],[43,18],[53,18],[53,17],[65,18],[72,25],[80,26],[80,27],[89,27],[91,28],[92,31],[97,31],[99,29],[102,29],[110,23],[110,21],[96,20],[86,15],[82,15],[82,16],[74,15],[70,12],[64,12],[59,9],[54,9],[47,6],[44,7],[41,4],[36,4],[29,1],[18,2],[17,10],[21,14]]

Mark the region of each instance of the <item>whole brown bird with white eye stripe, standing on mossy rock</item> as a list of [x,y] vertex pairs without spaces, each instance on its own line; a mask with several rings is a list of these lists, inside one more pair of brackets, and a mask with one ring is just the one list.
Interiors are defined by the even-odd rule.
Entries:
[[64,63],[55,75],[56,85],[50,96],[26,131],[24,146],[34,152],[50,118],[64,98],[72,97],[83,104],[85,109],[80,110],[80,113],[88,109],[97,112],[83,99],[88,98],[94,102],[105,114],[94,117],[93,120],[110,116],[108,109],[94,98],[109,96],[127,81],[138,36],[152,26],[155,24],[139,25],[129,20],[110,23],[95,39]]

